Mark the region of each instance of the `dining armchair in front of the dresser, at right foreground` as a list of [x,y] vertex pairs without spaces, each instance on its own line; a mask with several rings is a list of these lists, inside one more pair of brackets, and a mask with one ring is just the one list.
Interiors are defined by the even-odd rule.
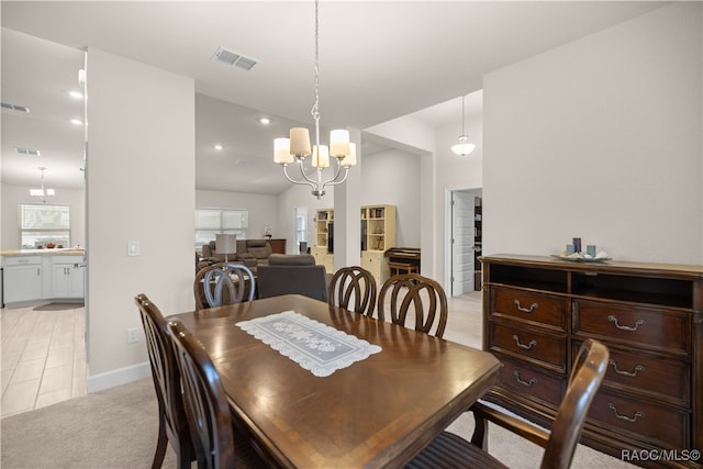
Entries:
[[607,370],[607,347],[600,342],[587,339],[581,345],[551,432],[477,402],[470,409],[476,417],[471,442],[443,432],[406,468],[505,468],[488,453],[487,422],[490,421],[545,448],[540,465],[543,469],[567,469],[581,438],[589,406]]

